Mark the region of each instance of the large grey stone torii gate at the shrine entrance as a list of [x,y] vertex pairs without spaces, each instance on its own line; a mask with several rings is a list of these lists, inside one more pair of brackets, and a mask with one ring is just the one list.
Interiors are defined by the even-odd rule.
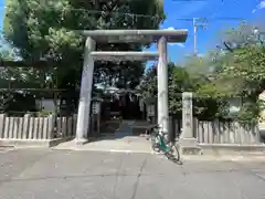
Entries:
[[[84,65],[81,82],[76,144],[87,142],[92,100],[94,62],[100,61],[148,61],[158,59],[158,124],[165,133],[169,129],[168,111],[168,43],[186,42],[187,30],[94,30],[82,31],[86,36]],[[158,43],[158,52],[106,52],[95,51],[98,43]]]

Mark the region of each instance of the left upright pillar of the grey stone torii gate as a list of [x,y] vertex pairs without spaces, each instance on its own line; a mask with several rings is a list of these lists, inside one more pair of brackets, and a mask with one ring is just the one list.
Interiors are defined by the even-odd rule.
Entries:
[[76,144],[84,144],[87,142],[94,72],[94,60],[91,55],[91,52],[94,50],[95,41],[92,38],[87,38],[85,43],[84,64],[81,81],[77,126],[75,135]]

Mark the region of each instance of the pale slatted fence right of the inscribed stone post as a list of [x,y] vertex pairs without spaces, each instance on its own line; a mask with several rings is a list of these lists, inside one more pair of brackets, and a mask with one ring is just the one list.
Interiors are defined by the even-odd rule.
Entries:
[[258,144],[257,125],[241,125],[237,122],[195,122],[194,135],[203,144]]

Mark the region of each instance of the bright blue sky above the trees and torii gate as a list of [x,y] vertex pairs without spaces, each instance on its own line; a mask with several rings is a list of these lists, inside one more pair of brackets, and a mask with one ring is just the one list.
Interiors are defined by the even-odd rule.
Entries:
[[[198,29],[198,53],[205,54],[219,44],[225,30],[240,23],[239,19],[254,22],[265,17],[265,0],[163,0],[163,3],[167,19],[160,29],[189,31],[186,43],[168,46],[169,59],[173,62],[193,53],[192,18],[206,19],[204,29]],[[4,0],[0,0],[0,29],[3,11]],[[156,46],[151,46],[150,51],[156,51]]]

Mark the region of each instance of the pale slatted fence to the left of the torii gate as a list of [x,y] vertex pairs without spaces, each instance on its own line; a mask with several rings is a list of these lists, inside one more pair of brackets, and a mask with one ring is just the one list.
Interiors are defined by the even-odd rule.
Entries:
[[0,139],[53,139],[74,136],[76,116],[8,117],[0,114]]

